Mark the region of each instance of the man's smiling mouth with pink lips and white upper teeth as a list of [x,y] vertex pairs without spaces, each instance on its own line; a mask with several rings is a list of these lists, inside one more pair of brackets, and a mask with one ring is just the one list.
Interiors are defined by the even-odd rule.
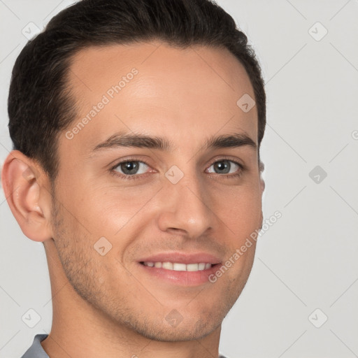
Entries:
[[141,259],[138,266],[149,279],[159,280],[161,284],[188,287],[210,282],[209,276],[222,264],[220,259],[213,255],[173,253]]

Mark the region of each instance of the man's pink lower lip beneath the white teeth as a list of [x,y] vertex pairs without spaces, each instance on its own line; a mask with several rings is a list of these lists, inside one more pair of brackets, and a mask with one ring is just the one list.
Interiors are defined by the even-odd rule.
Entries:
[[208,277],[220,268],[220,264],[215,264],[214,266],[201,271],[174,271],[167,270],[166,268],[145,266],[140,263],[138,263],[138,265],[143,268],[144,272],[158,280],[182,286],[197,286],[210,282]]

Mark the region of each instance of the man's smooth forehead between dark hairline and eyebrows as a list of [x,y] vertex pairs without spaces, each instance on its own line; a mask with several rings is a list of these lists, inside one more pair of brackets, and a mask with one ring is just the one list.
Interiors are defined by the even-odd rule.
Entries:
[[71,126],[87,117],[78,145],[123,129],[176,135],[182,143],[244,131],[257,142],[256,108],[244,113],[237,105],[255,94],[243,65],[226,49],[161,42],[90,47],[73,57],[69,78],[78,103]]

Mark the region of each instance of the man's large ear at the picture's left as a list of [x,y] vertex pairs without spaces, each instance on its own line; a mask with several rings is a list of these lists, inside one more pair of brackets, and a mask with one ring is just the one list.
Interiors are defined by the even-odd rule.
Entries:
[[52,201],[48,176],[40,166],[19,150],[13,150],[3,163],[1,183],[24,235],[34,241],[50,239]]

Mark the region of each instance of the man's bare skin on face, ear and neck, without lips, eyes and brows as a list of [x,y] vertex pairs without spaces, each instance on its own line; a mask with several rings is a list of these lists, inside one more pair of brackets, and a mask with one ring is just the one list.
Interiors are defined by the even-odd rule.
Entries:
[[[160,42],[86,48],[73,58],[69,80],[78,120],[134,67],[138,74],[76,136],[59,135],[52,195],[36,161],[15,150],[3,164],[13,215],[45,245],[53,317],[42,345],[51,358],[217,357],[222,320],[252,268],[255,242],[215,283],[186,287],[141,274],[137,260],[156,252],[229,259],[262,225],[264,181],[257,148],[202,149],[221,134],[245,133],[257,144],[256,107],[244,113],[236,105],[243,94],[255,98],[252,85],[227,50]],[[117,131],[165,137],[173,150],[91,152]],[[143,174],[110,173],[129,156],[148,164]],[[215,173],[220,159],[246,169],[229,178],[238,171],[231,162],[229,174]],[[164,175],[173,165],[184,173],[175,185]],[[103,236],[112,249],[101,256],[94,244]],[[182,316],[176,327],[166,321],[172,310]]]

